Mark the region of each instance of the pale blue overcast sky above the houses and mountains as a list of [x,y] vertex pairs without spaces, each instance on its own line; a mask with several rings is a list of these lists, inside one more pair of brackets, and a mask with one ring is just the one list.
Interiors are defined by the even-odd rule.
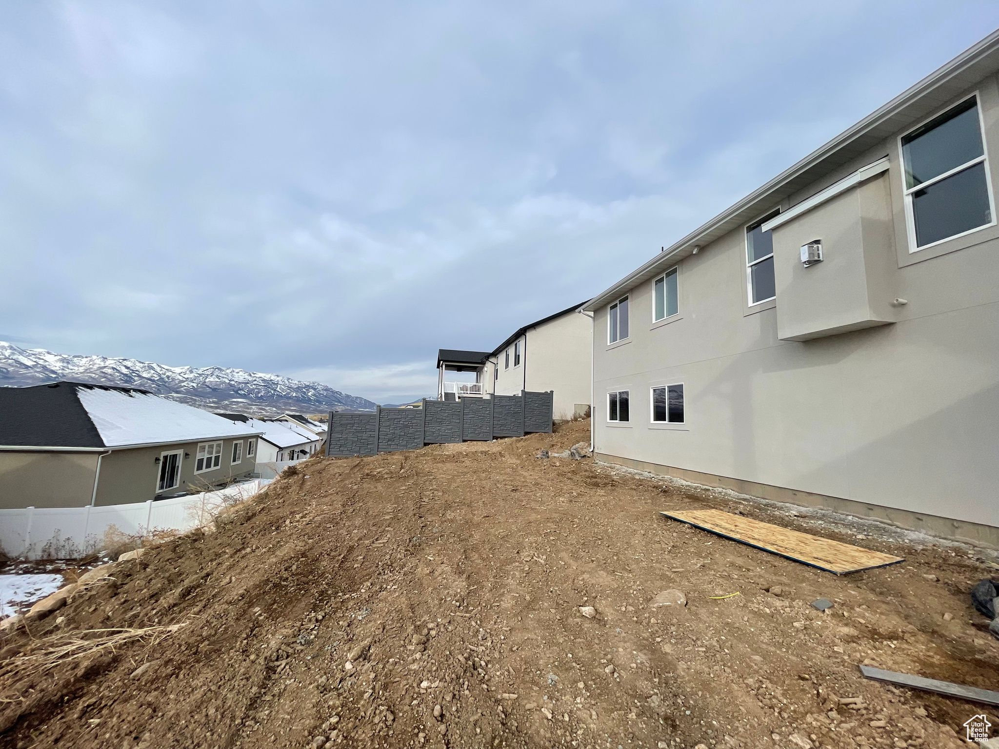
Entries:
[[0,340],[392,402],[582,302],[999,3],[0,7]]

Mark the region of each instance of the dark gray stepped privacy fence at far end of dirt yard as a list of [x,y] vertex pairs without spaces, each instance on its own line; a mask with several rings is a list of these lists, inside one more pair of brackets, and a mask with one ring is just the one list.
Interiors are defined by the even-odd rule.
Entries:
[[383,408],[374,413],[330,413],[326,454],[375,455],[425,444],[550,432],[554,391],[458,400],[428,400],[422,408]]

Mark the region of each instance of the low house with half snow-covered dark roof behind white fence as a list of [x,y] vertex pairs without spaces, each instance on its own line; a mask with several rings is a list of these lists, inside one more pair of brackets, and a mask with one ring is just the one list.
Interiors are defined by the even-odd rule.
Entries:
[[0,387],[0,507],[122,504],[250,478],[259,433],[135,387]]

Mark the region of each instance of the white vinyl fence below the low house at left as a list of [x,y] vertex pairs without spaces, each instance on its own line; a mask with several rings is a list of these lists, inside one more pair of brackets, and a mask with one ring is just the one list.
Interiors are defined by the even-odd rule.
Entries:
[[219,491],[132,504],[0,509],[0,550],[25,559],[75,559],[163,531],[184,532],[211,522],[223,507],[256,494],[270,480],[255,478]]

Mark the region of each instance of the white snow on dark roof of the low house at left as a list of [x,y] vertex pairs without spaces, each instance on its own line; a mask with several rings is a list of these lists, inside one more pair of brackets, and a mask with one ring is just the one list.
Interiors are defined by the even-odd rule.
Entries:
[[193,405],[138,390],[81,385],[77,397],[108,447],[244,436],[260,431]]

